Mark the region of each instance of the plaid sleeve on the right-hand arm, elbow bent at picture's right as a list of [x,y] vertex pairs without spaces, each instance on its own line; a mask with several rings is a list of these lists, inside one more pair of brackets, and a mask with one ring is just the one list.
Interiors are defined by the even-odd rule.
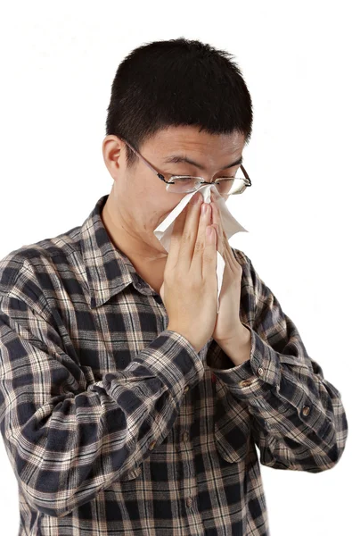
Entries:
[[262,465],[311,473],[329,469],[339,461],[348,435],[340,391],[308,356],[297,326],[249,257],[241,255],[246,263],[241,300],[255,301],[256,311],[253,320],[249,315],[242,322],[250,331],[250,359],[233,366],[217,345],[209,368],[248,405]]

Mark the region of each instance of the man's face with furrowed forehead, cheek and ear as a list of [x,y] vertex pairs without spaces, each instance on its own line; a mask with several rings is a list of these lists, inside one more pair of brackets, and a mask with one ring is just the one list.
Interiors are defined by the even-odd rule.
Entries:
[[[213,181],[219,177],[231,177],[237,166],[224,169],[242,155],[245,138],[242,134],[210,135],[199,132],[198,127],[170,127],[160,130],[148,140],[140,153],[158,172],[165,175],[194,175]],[[110,219],[121,232],[127,233],[131,247],[146,251],[162,252],[165,249],[156,239],[153,230],[158,227],[186,194],[170,193],[166,184],[156,173],[137,159],[134,167],[127,170],[125,144],[116,136],[107,136],[102,143],[104,162],[114,180],[111,194],[106,203]],[[200,163],[165,163],[170,155],[184,155]],[[151,253],[152,255],[152,253]]]

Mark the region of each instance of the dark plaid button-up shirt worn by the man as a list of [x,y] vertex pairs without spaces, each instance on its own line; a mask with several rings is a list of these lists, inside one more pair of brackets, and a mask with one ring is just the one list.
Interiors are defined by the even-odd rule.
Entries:
[[260,464],[339,461],[340,392],[248,256],[250,359],[169,331],[160,295],[113,246],[101,197],[82,226],[0,261],[0,425],[19,536],[269,534]]

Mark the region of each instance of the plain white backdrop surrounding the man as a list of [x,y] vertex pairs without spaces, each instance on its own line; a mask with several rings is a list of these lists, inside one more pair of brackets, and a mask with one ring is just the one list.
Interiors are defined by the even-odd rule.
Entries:
[[[112,179],[102,160],[111,83],[136,46],[196,38],[233,54],[253,100],[227,202],[243,250],[351,415],[349,2],[28,2],[0,13],[0,258],[81,225]],[[0,408],[1,411],[1,408]],[[271,536],[349,533],[352,449],[323,473],[261,465]],[[19,527],[0,441],[0,533]]]

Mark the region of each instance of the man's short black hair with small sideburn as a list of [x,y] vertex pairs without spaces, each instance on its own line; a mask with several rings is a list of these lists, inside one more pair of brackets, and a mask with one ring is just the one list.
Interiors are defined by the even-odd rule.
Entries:
[[[135,48],[111,85],[106,135],[137,151],[159,130],[196,125],[209,134],[240,132],[250,140],[253,112],[241,70],[224,50],[185,38]],[[128,147],[127,168],[137,155]]]

